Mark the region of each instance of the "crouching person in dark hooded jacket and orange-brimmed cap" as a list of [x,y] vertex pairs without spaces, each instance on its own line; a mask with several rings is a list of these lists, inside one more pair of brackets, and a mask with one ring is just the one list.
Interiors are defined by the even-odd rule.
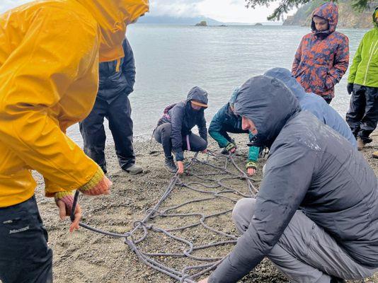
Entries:
[[[198,86],[190,89],[186,100],[164,109],[154,129],[154,138],[163,145],[165,165],[171,173],[183,173],[183,151],[206,151],[207,128],[204,110],[207,108],[207,92]],[[197,125],[200,137],[191,132]],[[172,151],[176,156],[173,161]]]

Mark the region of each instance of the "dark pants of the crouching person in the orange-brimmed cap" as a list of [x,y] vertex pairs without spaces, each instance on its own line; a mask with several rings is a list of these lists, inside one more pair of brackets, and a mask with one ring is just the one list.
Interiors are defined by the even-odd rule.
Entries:
[[[172,125],[171,123],[164,123],[156,127],[154,130],[154,138],[159,144],[163,145],[164,155],[166,157],[172,156],[172,139],[171,139]],[[190,151],[203,151],[207,147],[207,142],[197,134],[190,132],[188,134]],[[183,151],[188,150],[188,143],[186,136],[183,136]]]

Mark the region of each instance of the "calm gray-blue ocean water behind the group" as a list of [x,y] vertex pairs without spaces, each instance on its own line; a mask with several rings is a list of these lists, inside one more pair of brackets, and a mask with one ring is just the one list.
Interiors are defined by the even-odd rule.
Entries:
[[[338,30],[350,40],[350,64],[367,30]],[[273,67],[291,69],[295,51],[309,28],[299,26],[194,27],[134,24],[127,37],[134,50],[137,77],[130,95],[134,136],[150,137],[166,105],[185,99],[193,86],[209,93],[207,122],[227,103],[236,86]],[[331,105],[345,117],[350,96],[346,78],[336,86]],[[107,123],[107,142],[113,143]],[[82,144],[79,127],[69,137]]]

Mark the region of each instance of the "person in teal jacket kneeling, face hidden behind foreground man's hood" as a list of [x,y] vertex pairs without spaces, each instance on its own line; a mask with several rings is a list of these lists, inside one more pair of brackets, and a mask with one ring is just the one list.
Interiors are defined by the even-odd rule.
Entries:
[[[219,109],[217,114],[212,118],[212,122],[209,127],[210,136],[217,141],[220,148],[223,148],[222,154],[234,153],[236,151],[236,144],[229,132],[234,134],[249,134],[249,141],[253,141],[253,134],[247,130],[241,128],[241,117],[234,113],[234,103],[240,86],[235,88],[234,93],[229,102]],[[250,146],[248,151],[248,161],[246,163],[246,169],[248,175],[256,173],[257,160],[260,148],[258,146]]]

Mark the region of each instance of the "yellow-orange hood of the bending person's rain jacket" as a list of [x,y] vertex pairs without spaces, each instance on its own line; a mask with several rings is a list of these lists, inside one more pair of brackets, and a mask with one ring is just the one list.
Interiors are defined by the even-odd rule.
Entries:
[[149,11],[149,0],[76,0],[96,19],[101,28],[100,62],[125,56],[122,40],[126,26]]

